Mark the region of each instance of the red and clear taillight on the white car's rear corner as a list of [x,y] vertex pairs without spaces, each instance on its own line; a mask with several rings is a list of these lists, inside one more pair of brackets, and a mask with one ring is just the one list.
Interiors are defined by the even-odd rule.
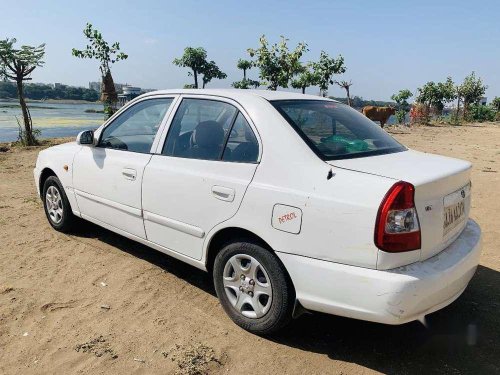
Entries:
[[420,225],[415,208],[415,187],[396,182],[378,209],[375,223],[375,245],[388,252],[420,249]]

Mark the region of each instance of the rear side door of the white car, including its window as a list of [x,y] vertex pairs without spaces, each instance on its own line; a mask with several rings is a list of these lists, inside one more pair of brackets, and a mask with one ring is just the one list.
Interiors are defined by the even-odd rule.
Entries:
[[144,172],[147,238],[201,259],[205,235],[240,206],[258,165],[258,138],[236,103],[184,97],[160,146]]

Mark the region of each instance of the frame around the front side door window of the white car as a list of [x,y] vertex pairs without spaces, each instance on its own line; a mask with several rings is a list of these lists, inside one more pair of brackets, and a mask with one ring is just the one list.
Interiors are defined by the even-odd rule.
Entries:
[[[144,98],[138,97],[137,99],[131,100],[129,103],[121,107],[116,113],[114,113],[103,125],[101,125],[95,132],[94,134],[97,135],[97,143],[95,145],[96,148],[103,149],[103,150],[115,150],[115,151],[123,151],[123,152],[132,152],[134,154],[153,154],[154,150],[157,147],[158,140],[159,140],[159,135],[162,133],[163,128],[165,127],[165,124],[167,123],[171,113],[172,109],[177,103],[177,100],[179,98],[179,95],[175,94],[165,94],[165,95],[154,95],[154,96],[147,96]],[[138,151],[130,151],[130,150],[122,150],[119,148],[111,148],[111,147],[103,147],[99,146],[102,140],[102,136],[104,133],[104,130],[108,127],[111,126],[115,121],[117,121],[125,112],[127,112],[129,109],[132,107],[138,105],[139,103],[145,102],[145,101],[150,101],[150,100],[158,100],[158,99],[172,99],[172,102],[170,103],[169,107],[167,108],[167,111],[165,112],[165,115],[163,116],[160,126],[158,127],[158,131],[156,132],[153,142],[151,143],[151,147],[149,149],[149,152],[138,152]]]

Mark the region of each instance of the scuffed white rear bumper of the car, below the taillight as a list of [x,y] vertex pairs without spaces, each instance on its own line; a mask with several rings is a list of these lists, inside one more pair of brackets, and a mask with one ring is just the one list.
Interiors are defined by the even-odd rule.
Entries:
[[386,324],[421,319],[457,299],[474,275],[481,229],[469,220],[439,254],[391,270],[375,270],[277,252],[309,310]]

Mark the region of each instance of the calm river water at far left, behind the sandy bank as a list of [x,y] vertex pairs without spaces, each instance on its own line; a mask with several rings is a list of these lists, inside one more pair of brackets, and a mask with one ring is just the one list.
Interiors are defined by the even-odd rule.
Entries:
[[[28,103],[33,127],[40,129],[41,138],[74,137],[82,130],[96,129],[104,122],[102,113],[85,110],[102,110],[102,104]],[[0,142],[17,140],[16,117],[23,124],[21,107],[16,101],[0,100]]]

